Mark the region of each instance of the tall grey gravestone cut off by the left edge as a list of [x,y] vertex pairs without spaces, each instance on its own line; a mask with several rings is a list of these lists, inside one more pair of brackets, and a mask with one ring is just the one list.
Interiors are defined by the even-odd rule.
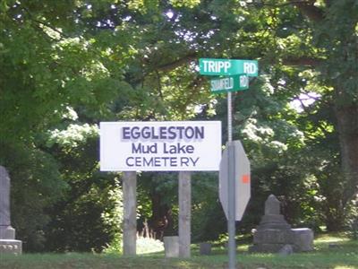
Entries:
[[15,240],[10,221],[10,177],[0,166],[0,254],[21,254],[22,242]]

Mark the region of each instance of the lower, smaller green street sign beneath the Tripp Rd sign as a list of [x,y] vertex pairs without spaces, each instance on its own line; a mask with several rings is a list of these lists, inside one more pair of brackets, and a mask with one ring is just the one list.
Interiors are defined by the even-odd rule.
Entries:
[[243,91],[249,89],[249,77],[247,74],[238,74],[210,81],[211,92],[221,93],[227,91]]

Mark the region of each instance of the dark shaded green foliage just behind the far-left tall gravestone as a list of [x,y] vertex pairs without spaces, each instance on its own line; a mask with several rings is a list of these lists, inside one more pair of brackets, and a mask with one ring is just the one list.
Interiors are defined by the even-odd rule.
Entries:
[[46,211],[67,189],[53,156],[35,148],[0,142],[0,163],[8,169],[12,190],[12,224],[24,250],[44,249],[51,221]]

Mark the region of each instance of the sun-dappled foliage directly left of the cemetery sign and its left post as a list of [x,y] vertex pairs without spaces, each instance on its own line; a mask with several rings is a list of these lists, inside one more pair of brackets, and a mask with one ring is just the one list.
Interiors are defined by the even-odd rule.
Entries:
[[47,211],[47,250],[101,251],[121,239],[122,190],[115,175],[98,172],[98,127],[69,125],[49,134],[47,146],[69,186]]

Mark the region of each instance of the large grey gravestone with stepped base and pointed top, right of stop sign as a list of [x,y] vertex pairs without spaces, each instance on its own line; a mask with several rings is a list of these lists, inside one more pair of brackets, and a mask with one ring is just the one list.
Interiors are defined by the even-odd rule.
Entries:
[[[280,213],[280,202],[275,195],[269,195],[265,203],[265,214],[253,233],[252,252],[276,253],[288,246],[294,252],[313,250],[313,231],[308,228],[291,229]],[[286,248],[285,248],[286,247]]]

